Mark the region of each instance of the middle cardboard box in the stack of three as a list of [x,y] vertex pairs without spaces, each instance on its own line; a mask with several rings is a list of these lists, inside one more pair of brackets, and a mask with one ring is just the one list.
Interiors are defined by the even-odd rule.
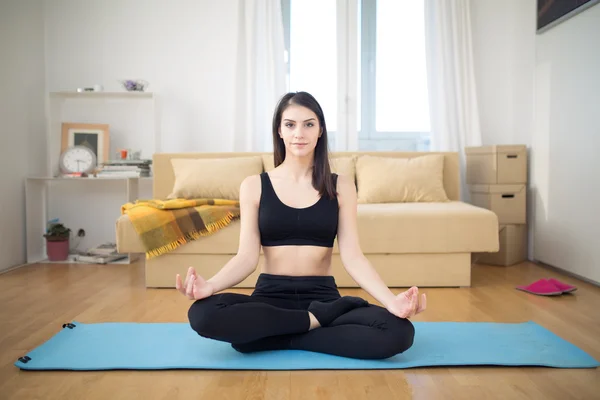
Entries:
[[471,204],[493,211],[499,224],[527,223],[525,185],[471,185]]

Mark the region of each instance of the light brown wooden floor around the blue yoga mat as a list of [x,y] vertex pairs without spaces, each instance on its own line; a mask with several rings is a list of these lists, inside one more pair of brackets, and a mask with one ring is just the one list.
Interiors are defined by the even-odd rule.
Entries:
[[[539,297],[514,289],[548,276],[579,290]],[[600,288],[555,270],[530,263],[508,268],[477,265],[472,288],[423,291],[428,310],[415,321],[533,320],[600,360]],[[373,301],[361,290],[342,294]],[[13,365],[16,359],[54,335],[64,322],[185,322],[190,301],[175,290],[146,289],[140,264],[38,264],[0,275],[0,304],[0,399],[600,398],[600,368],[21,371]]]

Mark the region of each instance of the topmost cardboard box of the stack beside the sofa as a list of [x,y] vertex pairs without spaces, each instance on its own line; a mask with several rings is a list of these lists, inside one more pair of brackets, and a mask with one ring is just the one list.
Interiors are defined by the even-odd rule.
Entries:
[[466,147],[468,184],[527,183],[527,147],[497,145]]

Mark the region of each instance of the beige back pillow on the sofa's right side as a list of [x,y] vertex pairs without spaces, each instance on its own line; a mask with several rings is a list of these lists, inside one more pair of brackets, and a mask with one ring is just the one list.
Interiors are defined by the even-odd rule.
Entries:
[[413,158],[364,155],[356,160],[358,203],[442,202],[444,156]]

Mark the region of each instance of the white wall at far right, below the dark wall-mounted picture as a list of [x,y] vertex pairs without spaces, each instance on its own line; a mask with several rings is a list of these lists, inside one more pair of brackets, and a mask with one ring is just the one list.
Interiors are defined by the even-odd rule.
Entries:
[[534,257],[600,282],[600,5],[536,37]]

